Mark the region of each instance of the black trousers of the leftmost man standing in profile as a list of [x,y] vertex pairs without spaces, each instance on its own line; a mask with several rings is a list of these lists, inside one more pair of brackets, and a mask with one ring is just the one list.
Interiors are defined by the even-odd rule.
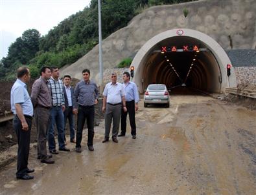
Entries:
[[29,144],[30,144],[30,131],[32,124],[32,117],[25,116],[29,130],[22,130],[20,119],[14,116],[13,125],[17,135],[17,177],[22,177],[27,174],[28,159],[29,159]]

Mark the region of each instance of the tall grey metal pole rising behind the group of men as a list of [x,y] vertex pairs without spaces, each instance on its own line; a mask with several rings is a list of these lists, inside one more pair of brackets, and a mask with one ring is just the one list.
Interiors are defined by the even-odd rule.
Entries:
[[100,94],[103,92],[103,61],[102,61],[102,35],[101,35],[101,8],[100,8],[100,0],[98,0],[98,13],[99,13],[99,83],[100,83]]

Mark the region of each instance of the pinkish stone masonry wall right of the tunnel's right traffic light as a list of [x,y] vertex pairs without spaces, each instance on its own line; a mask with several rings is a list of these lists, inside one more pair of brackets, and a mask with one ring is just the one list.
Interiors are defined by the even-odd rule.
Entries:
[[234,67],[237,85],[250,83],[256,85],[256,67]]

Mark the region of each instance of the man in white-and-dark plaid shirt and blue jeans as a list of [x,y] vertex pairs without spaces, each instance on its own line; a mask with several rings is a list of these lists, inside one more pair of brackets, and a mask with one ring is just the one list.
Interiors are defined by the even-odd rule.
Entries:
[[70,151],[65,147],[64,141],[64,114],[65,101],[63,92],[63,82],[59,79],[60,72],[58,67],[51,67],[51,78],[49,79],[48,87],[52,94],[52,107],[50,110],[50,121],[48,128],[48,143],[49,151],[52,154],[58,154],[56,150],[56,143],[54,139],[54,125],[58,130],[58,145],[59,150],[68,152]]

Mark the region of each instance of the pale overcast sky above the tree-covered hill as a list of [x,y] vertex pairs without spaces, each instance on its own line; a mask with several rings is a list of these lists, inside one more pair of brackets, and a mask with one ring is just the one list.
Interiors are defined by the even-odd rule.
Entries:
[[23,32],[35,28],[41,36],[91,0],[0,0],[0,60]]

